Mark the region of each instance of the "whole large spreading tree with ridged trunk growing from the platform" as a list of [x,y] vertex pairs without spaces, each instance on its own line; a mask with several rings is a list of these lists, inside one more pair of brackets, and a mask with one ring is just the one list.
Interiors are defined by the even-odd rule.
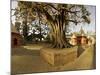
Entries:
[[51,4],[37,2],[18,2],[16,8],[21,18],[28,23],[40,20],[47,24],[50,32],[49,37],[53,48],[68,47],[65,31],[71,24],[90,23],[90,13],[84,5]]

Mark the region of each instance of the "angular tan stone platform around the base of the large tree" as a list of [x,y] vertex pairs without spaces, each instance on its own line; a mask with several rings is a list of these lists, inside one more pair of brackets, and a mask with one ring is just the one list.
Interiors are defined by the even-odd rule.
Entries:
[[62,66],[77,58],[77,47],[64,48],[61,50],[43,48],[40,50],[40,56],[52,66]]

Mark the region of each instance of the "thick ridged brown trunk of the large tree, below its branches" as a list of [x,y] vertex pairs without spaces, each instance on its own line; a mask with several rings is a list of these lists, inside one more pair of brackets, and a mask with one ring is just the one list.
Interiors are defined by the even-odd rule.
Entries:
[[65,48],[68,47],[66,41],[65,30],[63,26],[53,25],[52,31],[50,33],[50,39],[52,41],[53,48]]

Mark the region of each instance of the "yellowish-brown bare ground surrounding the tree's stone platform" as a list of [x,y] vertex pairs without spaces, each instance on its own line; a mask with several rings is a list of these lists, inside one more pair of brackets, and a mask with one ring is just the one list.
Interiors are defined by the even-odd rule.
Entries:
[[33,72],[51,72],[68,71],[95,68],[94,46],[78,48],[78,58],[63,66],[52,66],[40,57],[40,49],[43,45],[26,45],[12,49],[11,73],[33,73]]

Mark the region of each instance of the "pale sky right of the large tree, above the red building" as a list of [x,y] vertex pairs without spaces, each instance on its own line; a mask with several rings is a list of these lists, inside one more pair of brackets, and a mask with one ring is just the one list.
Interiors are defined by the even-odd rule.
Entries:
[[83,30],[85,32],[95,32],[95,29],[96,29],[96,23],[95,23],[95,19],[96,19],[96,7],[95,6],[86,6],[87,10],[91,13],[90,15],[90,19],[91,19],[91,22],[90,24],[87,24],[87,23],[81,23],[77,26],[75,25],[71,25],[71,30],[72,32],[74,31],[79,31],[81,29],[81,27],[83,28]]

